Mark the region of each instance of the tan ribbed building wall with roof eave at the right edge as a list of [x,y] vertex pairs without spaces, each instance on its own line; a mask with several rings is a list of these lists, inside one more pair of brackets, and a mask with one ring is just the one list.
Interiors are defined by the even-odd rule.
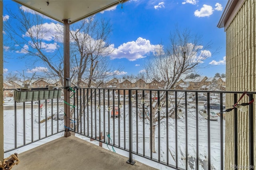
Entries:
[[[256,91],[256,1],[229,0],[218,23],[218,28],[226,32],[226,90]],[[239,99],[240,96],[238,96]],[[254,96],[255,99],[255,96]],[[248,99],[245,99],[248,101]],[[226,106],[234,105],[233,95],[226,95]],[[254,116],[255,114],[255,102]],[[249,139],[249,114],[238,114],[236,118],[238,134],[239,165],[249,165],[249,140],[256,141],[256,136]],[[255,121],[254,125],[255,127]],[[255,134],[255,128],[254,134]],[[234,162],[234,112],[226,113],[225,166],[230,168]],[[254,151],[256,145],[254,144]],[[255,152],[254,152],[255,156]],[[256,159],[254,157],[254,165]]]

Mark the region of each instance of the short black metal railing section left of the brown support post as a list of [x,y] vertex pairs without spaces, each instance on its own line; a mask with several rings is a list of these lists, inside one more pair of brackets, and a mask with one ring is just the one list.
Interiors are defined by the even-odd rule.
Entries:
[[62,99],[17,103],[13,97],[4,97],[4,152],[63,132],[63,106]]

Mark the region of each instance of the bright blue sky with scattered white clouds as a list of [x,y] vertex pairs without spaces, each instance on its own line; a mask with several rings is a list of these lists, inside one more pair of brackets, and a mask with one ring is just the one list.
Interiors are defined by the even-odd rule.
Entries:
[[[4,18],[8,20],[5,7],[15,12],[17,6],[10,0],[3,2]],[[204,43],[212,42],[211,52],[220,48],[217,55],[206,59],[197,70],[200,75],[213,77],[217,72],[226,71],[226,34],[224,28],[217,28],[226,3],[227,0],[130,0],[96,17],[110,20],[112,24],[110,41],[114,52],[110,62],[124,67],[120,74],[137,75],[143,71],[144,61],[153,55],[155,45],[162,42],[167,46],[170,32],[178,26],[202,36]],[[46,23],[51,21],[46,20]],[[4,75],[26,70],[25,61],[18,59],[19,55],[18,51],[4,51]]]

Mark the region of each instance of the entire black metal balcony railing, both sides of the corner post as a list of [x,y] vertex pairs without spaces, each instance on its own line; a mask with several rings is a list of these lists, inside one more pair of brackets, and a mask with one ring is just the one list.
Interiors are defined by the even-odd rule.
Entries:
[[[134,164],[134,154],[179,170],[198,170],[200,166],[223,170],[225,111],[233,108],[234,164],[238,163],[238,109],[234,103],[243,92],[73,89],[70,103],[61,99],[51,99],[50,103],[45,100],[43,105],[41,101],[22,105],[14,102],[13,120],[8,120],[14,124],[14,129],[7,129],[13,131],[10,133],[12,139],[5,139],[7,142],[13,140],[14,146],[5,144],[5,152],[70,130],[98,140],[114,152],[114,147],[127,151],[130,164]],[[250,101],[255,94],[247,92]],[[64,120],[59,118],[65,116],[65,104],[71,106],[68,117],[71,126],[64,128]],[[41,110],[41,107],[44,108]],[[248,108],[250,165],[253,167],[254,108],[253,105]],[[4,110],[5,115],[10,114],[7,112]],[[56,121],[54,115],[57,115]],[[11,117],[4,117],[4,121]],[[44,122],[41,123],[42,117]]]

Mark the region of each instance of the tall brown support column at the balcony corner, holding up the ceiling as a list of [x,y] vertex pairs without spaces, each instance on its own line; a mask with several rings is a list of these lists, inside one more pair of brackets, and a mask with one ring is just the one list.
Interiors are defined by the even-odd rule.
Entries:
[[[64,87],[66,87],[66,78],[70,77],[70,24],[68,23],[68,20],[63,20],[64,22]],[[64,101],[67,103],[70,103],[70,91],[69,89],[64,89]],[[71,132],[69,130],[70,128],[70,105],[64,105],[64,113],[66,116],[64,117],[64,125],[66,127],[65,129],[65,137],[68,137],[71,135]]]

